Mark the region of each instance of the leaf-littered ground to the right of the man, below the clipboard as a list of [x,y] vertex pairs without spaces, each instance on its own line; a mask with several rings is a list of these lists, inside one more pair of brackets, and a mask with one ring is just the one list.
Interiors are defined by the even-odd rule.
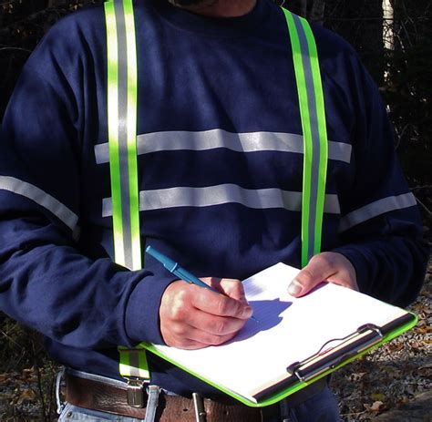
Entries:
[[[409,309],[419,316],[415,328],[334,373],[332,386],[345,421],[371,420],[432,392],[432,264]],[[421,420],[432,421],[430,407],[426,412]]]

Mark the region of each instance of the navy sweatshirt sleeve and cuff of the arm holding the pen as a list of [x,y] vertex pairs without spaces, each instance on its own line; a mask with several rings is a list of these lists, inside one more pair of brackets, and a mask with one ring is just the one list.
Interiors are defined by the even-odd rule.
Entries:
[[77,242],[86,219],[80,174],[86,93],[71,77],[82,67],[77,39],[57,43],[62,34],[73,38],[67,22],[27,62],[2,125],[0,309],[64,345],[163,343],[159,303],[170,274],[130,272],[108,254],[92,259]]

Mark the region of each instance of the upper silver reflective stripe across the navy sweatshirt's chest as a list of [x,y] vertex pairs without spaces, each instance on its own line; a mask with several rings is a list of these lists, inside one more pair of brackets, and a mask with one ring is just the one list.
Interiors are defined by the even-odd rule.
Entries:
[[[201,132],[167,131],[139,135],[138,154],[150,152],[226,148],[237,152],[278,151],[303,154],[303,136],[293,133],[249,132],[231,133],[222,129]],[[330,160],[349,163],[352,147],[343,142],[328,142]],[[95,145],[98,164],[109,161],[108,143]]]

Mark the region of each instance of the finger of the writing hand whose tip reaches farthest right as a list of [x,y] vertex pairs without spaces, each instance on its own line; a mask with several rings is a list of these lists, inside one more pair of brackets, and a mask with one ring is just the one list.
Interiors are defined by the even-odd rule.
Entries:
[[196,289],[194,289],[191,298],[192,305],[207,314],[231,316],[240,319],[249,319],[252,316],[251,306],[241,301],[198,286],[193,287],[196,287]]

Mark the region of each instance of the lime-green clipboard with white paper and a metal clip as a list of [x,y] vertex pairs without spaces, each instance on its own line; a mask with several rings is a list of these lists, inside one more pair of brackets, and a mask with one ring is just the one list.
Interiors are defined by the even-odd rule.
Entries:
[[[283,301],[275,300],[265,304],[265,300],[261,299],[285,293],[289,281],[297,272],[298,270],[293,267],[278,263],[243,282],[248,300],[254,310],[256,304],[262,304],[262,307],[257,308],[255,313],[260,321],[259,324],[263,324],[262,331],[254,327],[253,324],[256,323],[248,322],[244,332],[225,345],[199,350],[180,350],[149,343],[141,343],[139,347],[179,366],[192,376],[218,388],[244,405],[265,407],[309,386],[417,324],[415,314],[391,304],[385,304],[363,293],[325,283],[304,298],[293,299],[293,304],[282,311],[283,318],[278,324],[265,325],[263,310],[266,307],[267,310],[273,310],[277,306],[283,309],[285,305],[281,305]],[[256,298],[259,300],[254,301]],[[338,304],[333,303],[332,298]],[[325,300],[330,302],[324,304]],[[327,314],[322,315],[319,319],[312,319],[312,324],[305,324],[309,326],[307,335],[302,335],[301,330],[295,331],[296,327],[293,326],[291,319],[299,318],[301,317],[299,315],[302,314],[307,315],[316,308],[316,304],[320,303],[323,304],[320,312],[327,312],[328,309],[334,309],[337,306],[341,308],[341,312],[344,309],[352,309],[356,314],[350,315],[353,320],[352,324],[361,320],[365,320],[365,323],[357,324],[355,329],[347,331],[349,324],[345,320],[349,318],[344,318],[343,329],[335,326],[329,333],[345,333],[345,335],[325,337],[325,334],[320,331],[328,324],[328,321],[334,320],[332,315]],[[367,313],[370,315],[371,322],[368,322],[367,317],[357,315],[362,312],[362,306],[368,309]],[[383,324],[377,324],[377,321]],[[342,324],[342,321],[340,323]],[[315,333],[313,333],[314,330]],[[297,342],[299,339],[303,340],[307,346],[303,345],[302,350],[296,350],[301,347],[291,346],[289,342],[286,346],[285,339],[281,338],[281,333],[284,332],[292,336],[296,335],[297,338],[294,340]],[[323,338],[326,339],[324,342]],[[262,339],[266,339],[267,344],[262,345],[264,341]],[[283,347],[287,348],[282,354],[280,350],[275,350],[275,348]],[[256,350],[257,348],[261,350]],[[313,352],[309,353],[311,350]],[[284,360],[285,355],[286,360]],[[262,359],[259,359],[259,356],[262,356]],[[301,356],[301,358],[293,359],[293,356]],[[250,358],[249,362],[247,358]],[[276,367],[273,361],[279,366]],[[275,368],[269,367],[273,364]]]

